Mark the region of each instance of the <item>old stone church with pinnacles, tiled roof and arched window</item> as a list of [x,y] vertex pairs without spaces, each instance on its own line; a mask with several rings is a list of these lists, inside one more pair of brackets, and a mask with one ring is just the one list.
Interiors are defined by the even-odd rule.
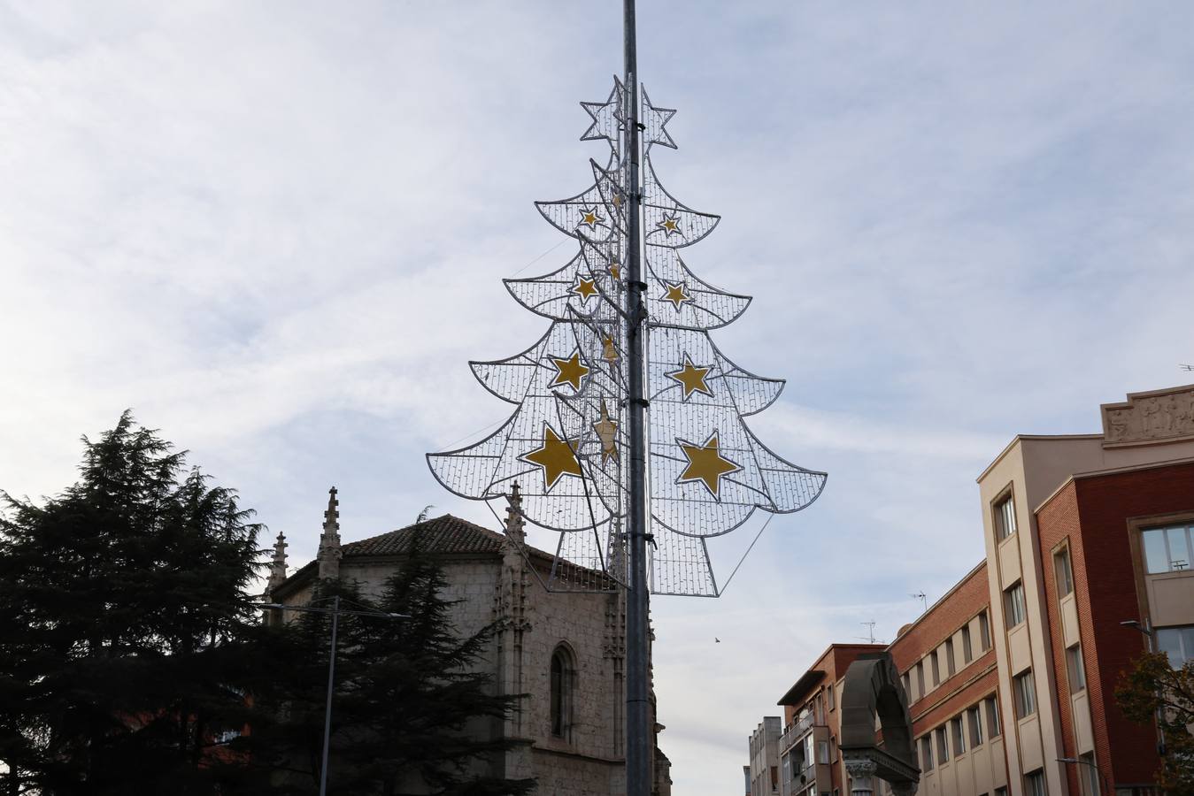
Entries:
[[[534,777],[535,792],[543,796],[624,794],[624,597],[548,592],[543,584],[552,555],[525,545],[517,486],[507,501],[500,533],[444,514],[341,544],[333,487],[314,561],[287,576],[285,538],[278,535],[269,599],[301,605],[320,578],[356,580],[364,594],[378,593],[418,535],[444,566],[444,597],[458,600],[453,609],[457,630],[473,634],[497,623],[484,666],[500,692],[522,695],[510,717],[475,730],[516,741],[490,763],[491,773]],[[653,792],[670,796],[670,763],[658,746],[663,726],[654,727]]]

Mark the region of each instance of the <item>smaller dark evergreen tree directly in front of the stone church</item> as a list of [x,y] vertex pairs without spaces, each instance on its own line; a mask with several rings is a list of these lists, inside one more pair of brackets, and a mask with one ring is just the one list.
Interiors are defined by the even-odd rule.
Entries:
[[[408,557],[374,605],[356,584],[325,580],[316,590],[321,605],[339,594],[347,609],[407,616],[340,617],[330,794],[498,796],[525,794],[534,785],[490,769],[494,757],[512,747],[497,726],[515,709],[515,697],[494,693],[492,678],[476,671],[493,628],[462,637],[450,617],[454,601],[444,597],[447,585],[442,564],[416,535]],[[304,615],[291,624],[310,647],[288,669],[294,698],[287,720],[272,733],[290,746],[291,769],[309,777],[285,792],[314,792],[319,780],[327,623],[326,615]]]

